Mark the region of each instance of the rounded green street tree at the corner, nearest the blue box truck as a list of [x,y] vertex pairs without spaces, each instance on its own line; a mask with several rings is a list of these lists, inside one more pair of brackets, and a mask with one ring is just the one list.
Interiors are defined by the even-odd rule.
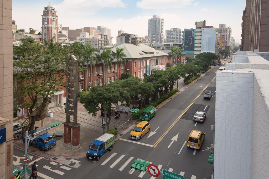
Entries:
[[[83,95],[80,99],[85,109],[89,114],[97,116],[97,111],[103,108],[107,111],[107,132],[109,131],[109,124],[111,121],[111,106],[112,104],[118,105],[119,102],[130,105],[130,95],[125,92],[119,84],[111,83],[109,85],[97,85],[90,89],[89,93]],[[100,107],[101,104],[101,107]],[[100,121],[101,122],[101,121]]]

